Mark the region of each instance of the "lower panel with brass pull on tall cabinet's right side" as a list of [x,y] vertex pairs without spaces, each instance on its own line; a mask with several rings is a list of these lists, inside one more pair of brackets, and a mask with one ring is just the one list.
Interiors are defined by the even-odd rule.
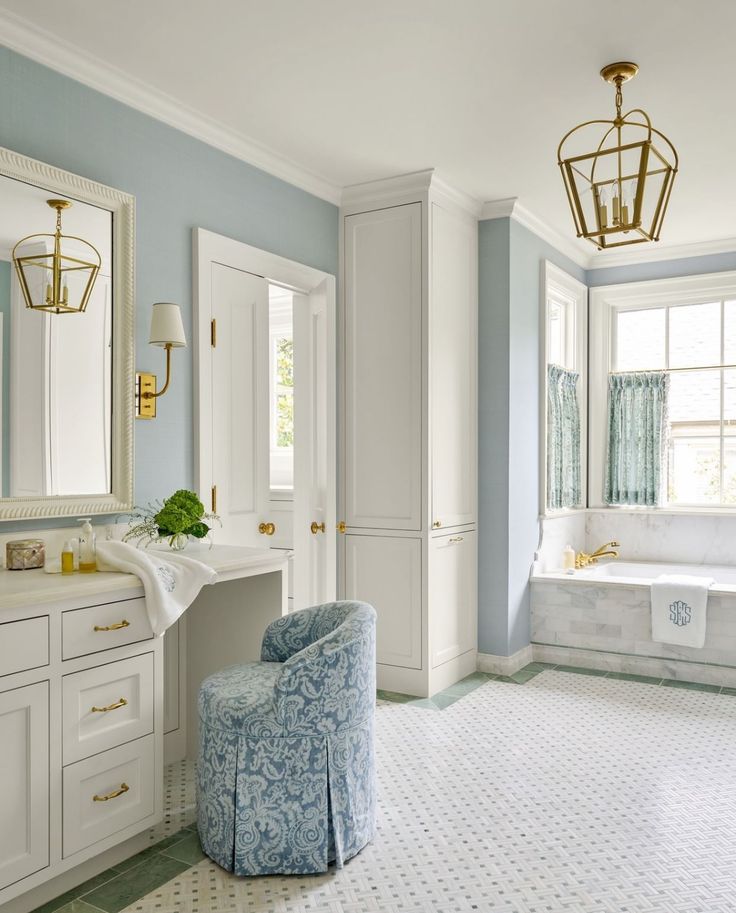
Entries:
[[432,539],[429,612],[432,668],[475,649],[477,542],[475,532]]

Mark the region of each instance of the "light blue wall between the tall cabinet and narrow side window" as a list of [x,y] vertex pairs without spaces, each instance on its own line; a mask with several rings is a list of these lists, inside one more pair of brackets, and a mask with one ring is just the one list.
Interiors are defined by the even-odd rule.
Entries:
[[479,225],[478,649],[529,643],[529,569],[539,536],[540,278],[550,260],[585,272],[516,221]]

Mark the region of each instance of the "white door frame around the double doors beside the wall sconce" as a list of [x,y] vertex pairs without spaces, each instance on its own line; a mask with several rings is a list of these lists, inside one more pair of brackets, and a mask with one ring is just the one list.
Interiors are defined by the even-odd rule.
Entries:
[[[193,393],[194,393],[194,478],[197,490],[204,504],[210,506],[212,484],[212,440],[211,425],[202,421],[209,415],[208,404],[212,402],[212,346],[211,314],[212,289],[210,286],[211,264],[243,270],[261,276],[278,285],[292,288],[309,295],[320,286],[326,291],[327,313],[330,332],[328,334],[328,381],[327,398],[334,404],[328,409],[328,478],[334,480],[328,491],[329,503],[326,516],[334,518],[337,511],[337,334],[336,334],[336,282],[330,273],[288,260],[242,241],[235,241],[203,228],[192,232],[192,261],[194,269],[194,300],[192,331],[194,337]],[[203,413],[203,409],[205,410]],[[334,568],[336,556],[330,556]],[[336,583],[336,581],[335,581]]]

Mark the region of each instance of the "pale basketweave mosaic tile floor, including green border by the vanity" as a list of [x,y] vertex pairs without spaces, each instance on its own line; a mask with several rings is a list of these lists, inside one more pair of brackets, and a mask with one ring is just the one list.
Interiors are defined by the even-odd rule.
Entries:
[[519,679],[476,674],[449,703],[380,695],[378,835],[339,872],[228,875],[201,855],[178,766],[152,846],[41,909],[733,913],[736,701],[559,667]]

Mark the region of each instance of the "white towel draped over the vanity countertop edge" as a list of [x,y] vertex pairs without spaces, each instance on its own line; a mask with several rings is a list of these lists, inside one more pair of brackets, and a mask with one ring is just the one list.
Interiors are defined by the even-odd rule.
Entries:
[[97,543],[97,569],[135,574],[143,584],[153,633],[160,637],[194,602],[216,571],[201,561],[175,552],[144,551],[127,542]]

